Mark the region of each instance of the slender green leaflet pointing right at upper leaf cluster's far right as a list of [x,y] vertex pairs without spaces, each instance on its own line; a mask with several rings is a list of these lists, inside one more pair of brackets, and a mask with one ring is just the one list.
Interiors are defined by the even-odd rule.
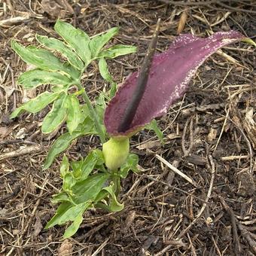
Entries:
[[114,59],[117,56],[122,56],[130,53],[136,53],[137,48],[135,46],[130,45],[123,45],[123,44],[117,44],[113,47],[110,47],[106,50],[102,50],[101,53],[99,53],[100,57],[105,57],[108,59]]

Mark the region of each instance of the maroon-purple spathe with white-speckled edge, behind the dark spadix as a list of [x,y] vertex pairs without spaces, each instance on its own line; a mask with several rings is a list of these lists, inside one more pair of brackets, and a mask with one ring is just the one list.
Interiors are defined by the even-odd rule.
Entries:
[[120,86],[105,110],[105,127],[110,136],[130,136],[155,117],[166,114],[169,105],[180,98],[203,61],[219,48],[245,38],[239,32],[216,32],[209,38],[180,35],[163,53],[155,54],[145,93],[129,128],[118,132],[123,114],[136,89],[138,72]]

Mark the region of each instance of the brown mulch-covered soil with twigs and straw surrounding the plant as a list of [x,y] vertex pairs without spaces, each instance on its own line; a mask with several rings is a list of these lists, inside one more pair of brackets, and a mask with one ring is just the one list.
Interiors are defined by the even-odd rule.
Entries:
[[[232,44],[204,62],[184,97],[158,120],[164,145],[147,130],[133,136],[141,172],[122,182],[125,208],[117,213],[90,209],[71,239],[63,241],[65,227],[44,230],[56,210],[50,198],[61,187],[61,156],[50,169],[42,171],[42,164],[66,127],[42,135],[49,108],[9,118],[21,102],[47,89],[27,91],[16,84],[27,66],[11,50],[11,38],[29,45],[37,33],[56,36],[58,17],[89,35],[120,26],[113,42],[139,47],[136,54],[108,61],[120,83],[142,63],[158,17],[161,52],[178,27],[202,37],[235,29],[255,40],[255,14],[256,3],[246,0],[0,3],[0,255],[256,255],[256,55],[251,45]],[[93,99],[108,84],[96,66],[89,74],[84,87]],[[97,147],[97,138],[85,137],[66,154],[79,159]]]

